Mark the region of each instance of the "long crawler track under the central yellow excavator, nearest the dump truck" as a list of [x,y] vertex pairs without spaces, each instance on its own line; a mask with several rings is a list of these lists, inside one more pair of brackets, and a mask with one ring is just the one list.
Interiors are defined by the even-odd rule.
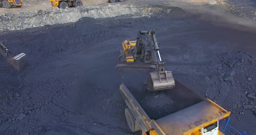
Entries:
[[147,73],[151,71],[155,71],[155,65],[152,64],[139,64],[139,63],[125,63],[125,64],[117,64],[115,67],[116,71],[122,73]]

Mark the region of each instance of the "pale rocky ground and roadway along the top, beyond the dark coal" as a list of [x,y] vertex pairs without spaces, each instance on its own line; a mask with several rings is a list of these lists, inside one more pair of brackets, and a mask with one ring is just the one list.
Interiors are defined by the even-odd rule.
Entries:
[[[256,4],[253,0],[244,0],[243,3],[240,0],[158,0],[158,2],[154,0],[129,0],[111,4],[105,0],[84,0],[83,2],[83,7],[64,10],[52,9],[47,1],[37,0],[24,1],[23,8],[0,8],[0,13],[2,13],[0,15],[0,31],[74,23],[82,17],[105,18],[135,13],[144,16],[148,15],[151,10],[147,8],[148,4],[177,6],[191,13],[214,13],[218,14],[219,17],[222,16],[221,19],[219,17],[212,18],[213,21],[233,17],[235,19],[230,19],[229,23],[239,23],[240,25],[247,23],[247,26],[254,25],[256,21]],[[158,9],[158,12],[161,10],[161,8]],[[209,19],[207,16],[204,17]]]

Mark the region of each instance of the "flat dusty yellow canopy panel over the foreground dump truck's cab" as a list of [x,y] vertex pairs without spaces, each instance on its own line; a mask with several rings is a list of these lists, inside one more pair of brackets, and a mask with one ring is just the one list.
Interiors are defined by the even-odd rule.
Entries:
[[[166,135],[183,135],[198,126],[218,119],[228,113],[220,106],[204,100],[186,109],[156,120]],[[198,129],[197,129],[198,130]]]

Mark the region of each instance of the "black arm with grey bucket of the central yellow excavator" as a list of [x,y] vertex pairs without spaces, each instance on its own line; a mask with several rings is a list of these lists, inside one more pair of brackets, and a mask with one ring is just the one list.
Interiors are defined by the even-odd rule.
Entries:
[[143,58],[144,63],[152,62],[155,65],[156,71],[149,73],[148,90],[166,90],[175,87],[172,72],[166,70],[165,62],[161,59],[154,30],[139,31],[133,50],[135,60]]

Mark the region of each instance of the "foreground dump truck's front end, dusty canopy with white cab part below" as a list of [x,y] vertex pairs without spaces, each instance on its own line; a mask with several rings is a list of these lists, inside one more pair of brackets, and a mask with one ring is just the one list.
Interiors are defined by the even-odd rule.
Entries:
[[219,135],[219,120],[228,116],[230,112],[206,99],[156,122],[166,135]]

